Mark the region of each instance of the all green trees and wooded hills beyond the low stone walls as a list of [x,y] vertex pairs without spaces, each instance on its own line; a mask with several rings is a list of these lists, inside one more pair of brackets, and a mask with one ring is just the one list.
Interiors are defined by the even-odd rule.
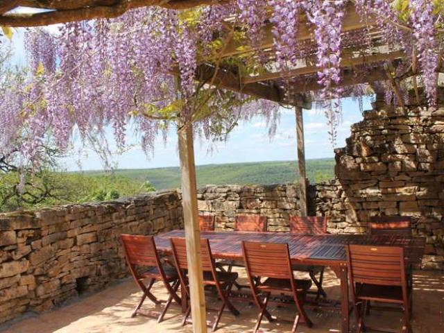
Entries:
[[[4,165],[3,169],[6,170]],[[196,167],[196,173],[198,187],[208,184],[270,185],[297,182],[297,169],[295,161],[250,162],[201,165]],[[100,202],[180,187],[178,167],[82,172],[42,169],[33,173],[4,170],[0,170],[0,212]],[[307,176],[310,182],[333,178],[334,160],[307,160]],[[20,183],[23,183],[22,189]]]

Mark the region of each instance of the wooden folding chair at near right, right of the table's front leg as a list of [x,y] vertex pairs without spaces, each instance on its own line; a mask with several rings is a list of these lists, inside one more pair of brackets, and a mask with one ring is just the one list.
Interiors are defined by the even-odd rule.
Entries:
[[358,332],[377,330],[396,332],[364,325],[370,301],[398,304],[404,314],[402,333],[410,333],[411,287],[407,284],[404,249],[394,246],[348,245],[347,260],[352,285],[352,302]]

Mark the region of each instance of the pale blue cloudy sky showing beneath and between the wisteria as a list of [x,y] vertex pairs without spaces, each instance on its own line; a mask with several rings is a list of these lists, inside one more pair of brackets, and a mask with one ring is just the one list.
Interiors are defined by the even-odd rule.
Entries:
[[[56,28],[52,28],[56,30]],[[51,29],[51,30],[52,30]],[[12,40],[13,59],[17,65],[23,64],[24,44],[23,31],[15,31]],[[368,100],[364,101],[364,110],[370,108]],[[345,145],[345,138],[350,136],[350,125],[362,119],[357,102],[351,99],[343,101],[343,122],[338,129],[336,146]],[[333,157],[333,147],[327,134],[326,120],[322,110],[305,110],[305,153],[306,158]],[[155,145],[153,157],[146,157],[138,145],[138,139],[128,130],[128,144],[132,144],[126,153],[114,155],[112,160],[121,169],[175,167],[179,165],[177,151],[177,135],[173,128],[169,131],[167,144],[159,137]],[[111,136],[110,136],[111,137]],[[110,140],[112,148],[113,142]],[[282,109],[278,132],[273,139],[268,137],[266,124],[261,119],[253,118],[242,122],[235,128],[228,142],[220,143],[212,153],[208,153],[209,142],[196,138],[196,164],[257,162],[273,160],[296,160],[296,119],[293,110]],[[103,169],[101,159],[92,150],[85,150],[82,154],[74,154],[62,160],[68,170]]]

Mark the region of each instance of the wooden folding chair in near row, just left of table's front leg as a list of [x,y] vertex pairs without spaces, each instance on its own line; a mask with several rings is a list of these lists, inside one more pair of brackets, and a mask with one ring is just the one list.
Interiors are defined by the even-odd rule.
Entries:
[[[242,251],[248,281],[253,291],[253,299],[259,308],[259,316],[253,332],[259,330],[264,316],[270,322],[275,320],[266,309],[268,300],[273,293],[293,297],[297,314],[294,321],[291,321],[293,323],[292,332],[296,332],[299,321],[311,327],[313,324],[303,307],[305,295],[311,287],[311,280],[296,280],[294,278],[288,244],[243,241]],[[260,282],[261,277],[265,277],[266,280]],[[259,279],[259,283],[257,279]]]

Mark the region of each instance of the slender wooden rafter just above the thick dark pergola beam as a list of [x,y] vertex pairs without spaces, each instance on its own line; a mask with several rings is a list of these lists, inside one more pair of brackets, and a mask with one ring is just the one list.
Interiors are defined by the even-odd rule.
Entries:
[[[341,60],[341,67],[354,67],[357,65],[371,64],[373,62],[379,62],[384,60],[393,60],[404,57],[402,51],[393,51],[390,53],[379,53],[372,56],[359,56],[356,58],[343,58]],[[295,76],[302,76],[307,74],[314,74],[318,71],[316,66],[307,66],[297,69],[291,69],[289,71],[278,71],[275,73],[267,73],[259,76],[246,76],[242,78],[242,83],[256,83],[266,80],[274,80],[276,78],[291,78]]]

